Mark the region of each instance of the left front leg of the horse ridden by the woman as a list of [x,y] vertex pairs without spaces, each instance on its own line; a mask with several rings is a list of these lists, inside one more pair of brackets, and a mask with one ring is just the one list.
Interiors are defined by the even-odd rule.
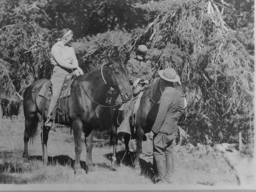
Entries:
[[82,127],[83,123],[80,120],[76,120],[72,123],[73,127],[73,134],[74,134],[74,141],[75,141],[75,152],[76,152],[76,160],[74,164],[74,170],[76,175],[82,175],[83,169],[80,165],[80,155],[82,152]]

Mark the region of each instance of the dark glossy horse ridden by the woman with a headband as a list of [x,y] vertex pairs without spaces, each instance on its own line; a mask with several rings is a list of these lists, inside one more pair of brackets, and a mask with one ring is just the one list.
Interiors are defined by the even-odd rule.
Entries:
[[[82,131],[88,136],[97,126],[97,120],[103,112],[106,94],[110,87],[113,87],[120,93],[123,101],[128,101],[132,97],[132,90],[123,63],[119,59],[108,58],[108,60],[109,63],[102,67],[76,78],[71,85],[71,94],[67,99],[70,122],[66,123],[66,125],[73,129],[76,152],[74,169],[76,174],[83,174],[83,170],[80,166]],[[28,141],[30,137],[33,140],[36,135],[38,124],[37,113],[43,115],[43,120],[46,120],[45,113],[43,112],[43,104],[49,101],[38,96],[38,93],[42,85],[47,81],[49,80],[40,79],[31,84],[24,92],[24,162],[28,162]],[[61,122],[59,123],[61,124]],[[49,130],[43,126],[41,133],[42,159],[46,164],[48,162],[48,133]],[[90,150],[90,147],[88,149]],[[91,153],[91,151],[89,151],[89,153]],[[90,169],[91,162],[87,162],[87,165],[89,165],[88,168]]]

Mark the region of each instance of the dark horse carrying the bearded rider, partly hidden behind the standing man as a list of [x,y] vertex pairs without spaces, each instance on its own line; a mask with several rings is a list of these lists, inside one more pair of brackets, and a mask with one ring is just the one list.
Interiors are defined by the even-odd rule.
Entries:
[[[181,86],[181,84],[179,84],[178,82],[173,82],[173,85],[175,88],[177,88],[181,94],[181,96],[184,96],[183,93],[183,88]],[[155,82],[152,83],[152,85],[143,92],[141,99],[140,99],[140,104],[139,104],[139,108],[135,114],[135,138],[136,138],[136,143],[137,143],[137,147],[136,147],[136,157],[135,157],[135,161],[134,161],[134,166],[138,167],[139,166],[139,155],[142,153],[142,141],[143,138],[145,138],[145,134],[149,133],[151,131],[151,128],[155,122],[156,119],[156,115],[158,112],[158,108],[159,108],[159,100],[160,97],[162,95],[162,91],[165,88],[165,84],[162,83],[162,79],[159,78],[157,79]],[[184,103],[186,106],[186,100],[185,97],[184,98]],[[122,113],[121,113],[122,114]],[[119,114],[120,116],[120,114]],[[115,126],[117,125],[117,119],[119,119],[120,121],[120,117],[118,118],[118,112],[114,112],[114,116],[113,116],[113,124]],[[116,128],[114,128],[114,126],[112,127],[112,132],[115,134],[116,132]],[[134,132],[134,126],[131,126],[131,133]],[[114,136],[113,134],[113,136]],[[130,140],[130,136],[125,134],[124,135],[124,143],[125,143],[125,148],[127,150],[127,152],[129,152],[129,140]],[[115,143],[114,143],[115,141]],[[113,147],[113,156],[112,156],[112,164],[116,164],[116,143],[117,143],[117,137],[114,136],[113,137],[113,143],[114,143],[114,147]]]

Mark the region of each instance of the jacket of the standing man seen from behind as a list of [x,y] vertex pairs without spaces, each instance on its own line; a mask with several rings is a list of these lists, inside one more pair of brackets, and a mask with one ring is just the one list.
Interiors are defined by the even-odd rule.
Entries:
[[171,86],[165,87],[152,131],[156,134],[174,133],[177,130],[177,122],[184,111],[184,99],[181,98],[179,91]]

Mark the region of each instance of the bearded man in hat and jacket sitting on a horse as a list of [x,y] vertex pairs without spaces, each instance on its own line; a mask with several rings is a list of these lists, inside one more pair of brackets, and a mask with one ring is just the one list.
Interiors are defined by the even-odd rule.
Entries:
[[[140,97],[141,90],[145,88],[145,85],[149,84],[152,78],[151,62],[145,58],[147,53],[146,45],[139,45],[135,49],[135,58],[130,59],[127,62],[128,79],[133,89],[134,97]],[[132,116],[135,99],[132,98],[129,102],[124,103],[122,117],[123,121],[117,128],[117,135],[122,136],[124,134],[131,135],[130,129],[130,117]],[[135,110],[136,111],[136,110]],[[121,137],[119,137],[120,139]]]

